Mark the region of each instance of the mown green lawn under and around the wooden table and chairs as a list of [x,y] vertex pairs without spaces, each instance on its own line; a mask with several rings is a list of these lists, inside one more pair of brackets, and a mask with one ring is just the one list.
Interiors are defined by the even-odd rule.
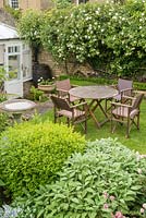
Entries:
[[[93,84],[82,81],[72,81],[72,83],[76,85]],[[97,119],[99,119],[99,121],[104,119],[99,109],[97,109],[96,111],[96,117]],[[49,120],[52,121],[53,111],[48,111],[42,119],[46,118],[49,118]],[[76,126],[75,130],[84,134],[81,126]],[[100,129],[97,129],[94,121],[89,119],[87,121],[86,138],[88,141],[95,141],[96,138],[99,140],[102,137],[118,137],[119,141],[129,148],[138,150],[141,154],[146,154],[146,99],[143,99],[143,102],[141,105],[141,130],[137,131],[136,128],[133,125],[130,133],[130,138],[125,138],[125,125],[118,124],[114,133],[112,134],[110,131],[110,122],[107,122]]]

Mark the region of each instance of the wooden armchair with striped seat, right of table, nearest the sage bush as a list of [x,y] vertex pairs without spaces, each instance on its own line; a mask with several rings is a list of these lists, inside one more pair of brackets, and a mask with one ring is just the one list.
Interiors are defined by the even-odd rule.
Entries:
[[[130,131],[132,124],[135,124],[137,130],[139,130],[139,106],[144,94],[137,95],[135,98],[126,97],[131,100],[131,105],[111,102],[111,132],[115,130],[117,123],[126,123],[126,137],[130,136]],[[114,125],[113,125],[113,121]]]

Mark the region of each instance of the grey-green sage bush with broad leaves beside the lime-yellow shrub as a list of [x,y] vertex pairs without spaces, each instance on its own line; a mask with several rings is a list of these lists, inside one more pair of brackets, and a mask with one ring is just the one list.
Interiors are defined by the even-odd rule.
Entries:
[[102,138],[88,143],[84,155],[69,158],[56,183],[16,205],[20,218],[139,217],[145,184],[146,158],[117,140]]

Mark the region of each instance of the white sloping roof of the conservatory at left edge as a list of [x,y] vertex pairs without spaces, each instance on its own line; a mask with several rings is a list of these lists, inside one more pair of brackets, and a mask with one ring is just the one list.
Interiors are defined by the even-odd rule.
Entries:
[[16,29],[7,24],[0,23],[0,40],[20,38]]

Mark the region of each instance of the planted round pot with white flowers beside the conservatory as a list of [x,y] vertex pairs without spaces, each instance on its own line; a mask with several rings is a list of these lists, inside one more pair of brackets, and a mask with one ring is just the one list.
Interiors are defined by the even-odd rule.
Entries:
[[40,77],[38,80],[38,89],[44,92],[52,92],[54,89],[54,77],[44,80]]

